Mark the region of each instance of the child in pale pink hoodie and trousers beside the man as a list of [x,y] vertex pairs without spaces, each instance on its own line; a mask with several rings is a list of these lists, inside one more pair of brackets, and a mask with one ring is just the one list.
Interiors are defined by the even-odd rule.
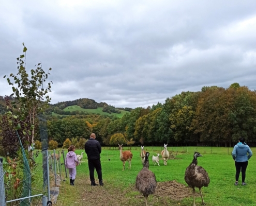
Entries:
[[71,186],[74,186],[74,179],[76,179],[76,175],[77,175],[76,165],[79,164],[77,155],[76,153],[74,153],[74,149],[75,149],[74,145],[71,145],[68,148],[68,153],[66,155],[66,160],[65,160],[65,166],[66,168],[68,168],[68,171],[69,171],[69,179],[70,179]]

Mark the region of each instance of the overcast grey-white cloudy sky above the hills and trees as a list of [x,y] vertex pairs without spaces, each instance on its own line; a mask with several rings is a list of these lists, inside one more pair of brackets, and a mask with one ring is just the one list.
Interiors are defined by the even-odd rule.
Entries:
[[237,82],[256,89],[256,1],[0,0],[0,95],[16,74],[52,68],[52,103],[164,103]]

